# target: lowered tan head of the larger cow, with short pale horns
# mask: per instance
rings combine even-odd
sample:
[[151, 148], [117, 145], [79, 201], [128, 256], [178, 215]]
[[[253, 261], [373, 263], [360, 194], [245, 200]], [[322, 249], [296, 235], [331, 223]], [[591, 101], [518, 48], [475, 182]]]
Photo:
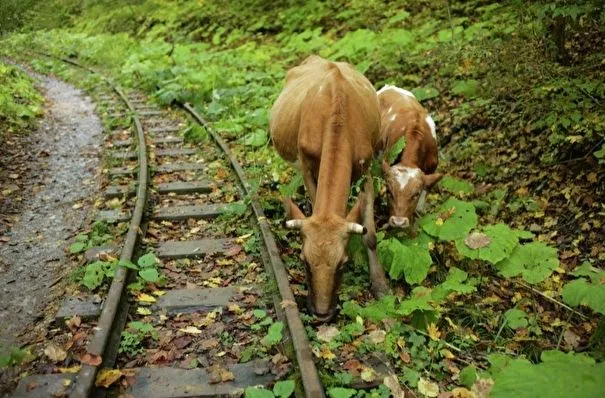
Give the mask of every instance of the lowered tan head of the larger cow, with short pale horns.
[[362, 235], [366, 229], [337, 215], [305, 217], [290, 199], [284, 199], [284, 207], [286, 227], [298, 229], [302, 235], [300, 258], [307, 272], [307, 305], [318, 319], [328, 321], [336, 313], [349, 237]]

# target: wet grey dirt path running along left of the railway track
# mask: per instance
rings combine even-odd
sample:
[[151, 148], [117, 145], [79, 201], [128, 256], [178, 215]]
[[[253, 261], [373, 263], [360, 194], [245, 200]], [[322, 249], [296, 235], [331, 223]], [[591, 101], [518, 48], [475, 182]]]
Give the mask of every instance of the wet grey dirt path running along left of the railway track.
[[0, 175], [21, 172], [13, 184], [19, 192], [0, 203], [0, 219], [8, 220], [0, 229], [0, 348], [18, 342], [48, 305], [67, 264], [65, 246], [88, 216], [77, 203], [98, 190], [102, 126], [93, 103], [70, 85], [37, 77], [44, 120], [30, 137], [14, 137], [13, 151], [0, 149]]

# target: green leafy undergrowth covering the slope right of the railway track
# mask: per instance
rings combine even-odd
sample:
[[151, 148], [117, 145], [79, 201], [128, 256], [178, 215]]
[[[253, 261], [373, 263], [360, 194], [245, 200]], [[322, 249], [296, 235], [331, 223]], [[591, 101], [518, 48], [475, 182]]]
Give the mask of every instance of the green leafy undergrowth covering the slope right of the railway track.
[[[29, 33], [4, 41], [8, 51], [33, 46], [76, 57], [161, 103], [198, 106], [258, 187], [295, 292], [304, 271], [296, 234], [278, 227], [278, 196], [301, 181], [267, 135], [285, 70], [311, 53], [346, 60], [377, 88], [411, 89], [433, 113], [440, 169], [450, 176], [429, 195], [416, 238], [379, 236], [399, 294], [367, 297], [364, 254], [353, 240], [344, 316], [329, 336], [309, 323], [330, 396], [395, 395], [399, 383], [426, 396], [602, 390], [600, 2], [106, 0], [59, 2], [50, 13], [54, 3], [31, 15]], [[384, 217], [383, 199], [376, 205]], [[268, 336], [281, 336], [277, 328]], [[147, 336], [128, 333], [129, 350]], [[386, 355], [395, 384], [351, 362], [352, 351]], [[355, 378], [383, 384], [366, 393], [349, 388]]]

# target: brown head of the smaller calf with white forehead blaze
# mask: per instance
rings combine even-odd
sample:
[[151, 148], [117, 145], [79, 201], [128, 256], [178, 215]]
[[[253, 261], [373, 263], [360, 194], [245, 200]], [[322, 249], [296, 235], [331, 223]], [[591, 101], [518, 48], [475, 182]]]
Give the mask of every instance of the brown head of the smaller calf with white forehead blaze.
[[385, 161], [382, 162], [382, 171], [387, 182], [389, 225], [394, 228], [407, 228], [412, 224], [416, 208], [424, 205], [419, 203], [421, 196], [426, 195], [426, 191], [435, 185], [443, 174], [424, 174], [418, 168], [399, 164], [389, 166]]

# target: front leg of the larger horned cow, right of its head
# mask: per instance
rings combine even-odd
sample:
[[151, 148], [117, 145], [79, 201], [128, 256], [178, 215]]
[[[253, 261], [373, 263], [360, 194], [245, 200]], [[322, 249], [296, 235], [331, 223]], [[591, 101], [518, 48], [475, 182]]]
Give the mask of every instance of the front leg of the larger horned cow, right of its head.
[[368, 173], [363, 188], [363, 200], [361, 202], [361, 213], [363, 225], [367, 233], [363, 236], [363, 243], [368, 251], [370, 263], [370, 281], [372, 282], [372, 294], [380, 298], [391, 293], [389, 281], [384, 273], [382, 264], [376, 255], [376, 224], [374, 223], [374, 183], [372, 176]]

